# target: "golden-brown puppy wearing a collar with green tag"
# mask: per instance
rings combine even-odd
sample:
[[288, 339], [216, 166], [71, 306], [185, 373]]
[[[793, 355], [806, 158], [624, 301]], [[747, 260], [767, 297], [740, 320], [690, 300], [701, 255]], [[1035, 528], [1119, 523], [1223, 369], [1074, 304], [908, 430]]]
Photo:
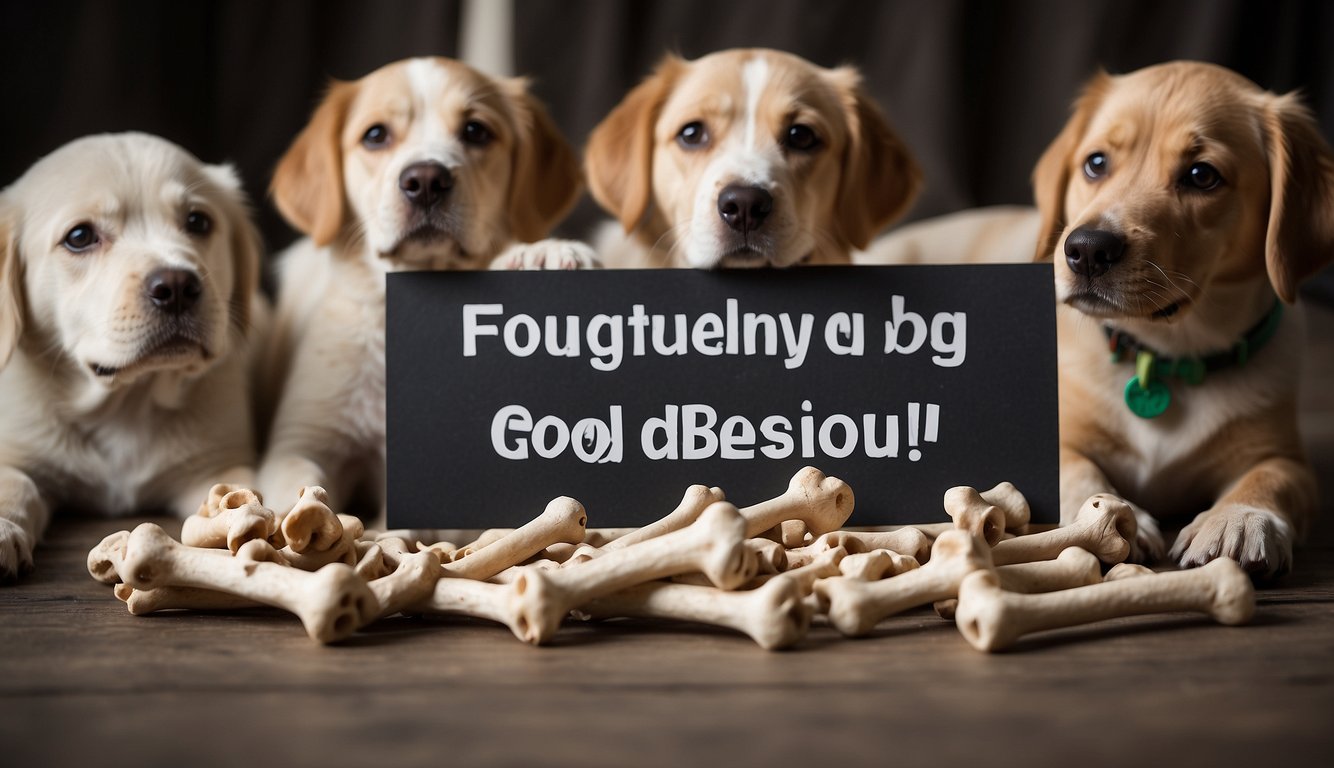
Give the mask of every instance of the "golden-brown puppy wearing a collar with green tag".
[[[1293, 95], [1210, 64], [1097, 76], [1034, 172], [1055, 261], [1061, 495], [1194, 515], [1183, 567], [1271, 575], [1317, 505], [1297, 429], [1302, 323], [1334, 256], [1334, 155]], [[1139, 544], [1163, 548], [1139, 515]]]

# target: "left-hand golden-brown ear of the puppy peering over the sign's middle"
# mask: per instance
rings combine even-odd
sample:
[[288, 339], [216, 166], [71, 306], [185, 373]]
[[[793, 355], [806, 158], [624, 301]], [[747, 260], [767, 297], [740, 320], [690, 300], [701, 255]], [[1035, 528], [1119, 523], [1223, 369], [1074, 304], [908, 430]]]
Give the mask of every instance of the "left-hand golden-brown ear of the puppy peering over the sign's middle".
[[584, 169], [594, 200], [632, 232], [648, 212], [652, 196], [654, 125], [686, 69], [667, 55], [654, 73], [622, 99], [588, 136]]

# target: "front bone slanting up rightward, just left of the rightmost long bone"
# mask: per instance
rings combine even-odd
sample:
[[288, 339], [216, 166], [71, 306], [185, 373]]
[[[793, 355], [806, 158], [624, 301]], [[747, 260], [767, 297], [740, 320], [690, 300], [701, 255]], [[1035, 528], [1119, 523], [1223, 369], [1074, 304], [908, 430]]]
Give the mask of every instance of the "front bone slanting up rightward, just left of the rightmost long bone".
[[830, 623], [855, 637], [870, 632], [882, 619], [954, 597], [964, 576], [990, 568], [986, 544], [964, 531], [946, 531], [936, 537], [927, 564], [915, 571], [880, 581], [823, 579], [816, 581], [815, 593], [828, 607]]

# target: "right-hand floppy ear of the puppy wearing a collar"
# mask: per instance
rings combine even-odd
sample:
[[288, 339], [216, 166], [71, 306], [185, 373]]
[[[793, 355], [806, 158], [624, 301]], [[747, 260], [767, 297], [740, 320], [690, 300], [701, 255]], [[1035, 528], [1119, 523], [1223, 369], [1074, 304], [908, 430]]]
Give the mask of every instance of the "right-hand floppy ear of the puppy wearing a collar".
[[1295, 95], [1277, 96], [1265, 112], [1269, 133], [1269, 232], [1265, 265], [1279, 299], [1334, 259], [1334, 155]]

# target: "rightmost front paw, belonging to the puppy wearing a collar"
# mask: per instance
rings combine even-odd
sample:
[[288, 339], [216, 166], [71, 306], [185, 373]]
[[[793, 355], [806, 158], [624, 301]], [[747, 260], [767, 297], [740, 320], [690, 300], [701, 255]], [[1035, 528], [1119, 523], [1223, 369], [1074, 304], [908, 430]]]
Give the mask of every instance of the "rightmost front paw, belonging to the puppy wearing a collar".
[[1231, 557], [1249, 573], [1277, 576], [1293, 567], [1293, 527], [1258, 507], [1214, 508], [1181, 529], [1171, 556], [1182, 568]]

